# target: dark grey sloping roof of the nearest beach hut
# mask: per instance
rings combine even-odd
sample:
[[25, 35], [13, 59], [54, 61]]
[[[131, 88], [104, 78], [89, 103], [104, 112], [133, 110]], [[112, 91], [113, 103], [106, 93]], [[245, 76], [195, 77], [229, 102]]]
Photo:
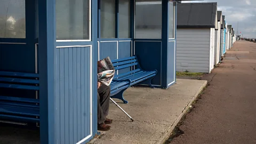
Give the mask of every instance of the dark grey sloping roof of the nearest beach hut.
[[179, 3], [177, 28], [215, 28], [217, 3]]

